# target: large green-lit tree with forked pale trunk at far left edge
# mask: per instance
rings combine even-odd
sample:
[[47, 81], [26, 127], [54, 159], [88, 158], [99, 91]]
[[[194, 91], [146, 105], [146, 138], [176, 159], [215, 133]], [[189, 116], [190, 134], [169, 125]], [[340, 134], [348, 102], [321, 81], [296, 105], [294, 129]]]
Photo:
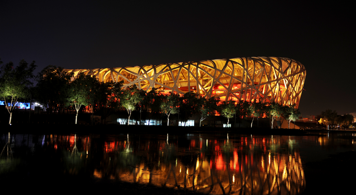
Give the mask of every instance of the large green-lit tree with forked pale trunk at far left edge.
[[36, 67], [35, 61], [28, 65], [25, 60], [21, 60], [16, 68], [9, 62], [0, 69], [0, 97], [5, 101], [5, 107], [10, 114], [9, 125], [18, 100], [28, 97], [31, 80], [34, 78], [33, 70]]

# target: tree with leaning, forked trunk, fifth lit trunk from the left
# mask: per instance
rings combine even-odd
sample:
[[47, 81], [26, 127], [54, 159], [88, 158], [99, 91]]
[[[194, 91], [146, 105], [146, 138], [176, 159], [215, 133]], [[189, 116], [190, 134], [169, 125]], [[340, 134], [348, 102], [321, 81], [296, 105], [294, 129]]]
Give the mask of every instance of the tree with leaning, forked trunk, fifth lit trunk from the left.
[[198, 104], [198, 111], [200, 117], [199, 127], [201, 126], [201, 121], [204, 121], [209, 115], [214, 115], [215, 111], [218, 110], [218, 104], [220, 102], [220, 97], [210, 97], [208, 100], [205, 98], [200, 98], [200, 103]]

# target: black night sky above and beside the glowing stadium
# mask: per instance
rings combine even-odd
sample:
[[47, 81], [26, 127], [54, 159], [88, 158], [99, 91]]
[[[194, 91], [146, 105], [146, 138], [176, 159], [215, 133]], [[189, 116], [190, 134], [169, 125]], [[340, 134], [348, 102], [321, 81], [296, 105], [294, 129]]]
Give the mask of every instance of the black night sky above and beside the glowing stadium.
[[0, 1], [0, 58], [68, 69], [237, 57], [304, 64], [303, 117], [356, 112], [352, 4]]

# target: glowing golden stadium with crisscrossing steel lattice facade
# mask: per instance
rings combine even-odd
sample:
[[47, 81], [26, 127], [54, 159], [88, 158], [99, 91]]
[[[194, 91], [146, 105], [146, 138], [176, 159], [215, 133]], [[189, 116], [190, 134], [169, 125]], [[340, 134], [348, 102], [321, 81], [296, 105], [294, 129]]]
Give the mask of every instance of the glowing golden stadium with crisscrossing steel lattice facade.
[[296, 60], [279, 57], [246, 57], [233, 59], [180, 62], [144, 67], [64, 69], [93, 75], [99, 81], [124, 80], [124, 88], [136, 85], [151, 90], [163, 87], [179, 94], [194, 91], [200, 97], [220, 97], [221, 101], [245, 100], [277, 102], [298, 107], [305, 81], [305, 68]]

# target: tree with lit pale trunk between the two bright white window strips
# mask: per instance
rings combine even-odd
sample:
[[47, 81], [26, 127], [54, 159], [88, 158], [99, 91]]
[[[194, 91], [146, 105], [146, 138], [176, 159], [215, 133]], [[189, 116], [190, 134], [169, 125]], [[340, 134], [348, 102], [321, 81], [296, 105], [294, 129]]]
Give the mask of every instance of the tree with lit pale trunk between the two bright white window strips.
[[167, 126], [169, 126], [169, 116], [178, 113], [179, 95], [169, 92], [162, 96], [161, 113], [167, 116]]

